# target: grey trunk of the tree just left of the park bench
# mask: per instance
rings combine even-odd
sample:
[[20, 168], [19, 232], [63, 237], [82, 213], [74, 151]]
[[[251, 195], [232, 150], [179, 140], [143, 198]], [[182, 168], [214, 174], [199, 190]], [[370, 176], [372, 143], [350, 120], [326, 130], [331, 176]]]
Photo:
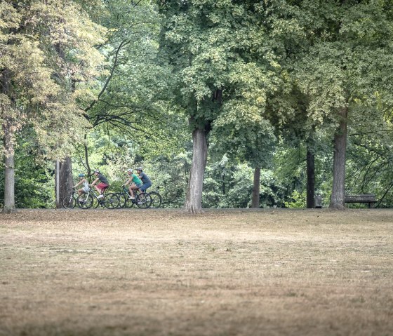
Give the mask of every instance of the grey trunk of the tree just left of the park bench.
[[348, 108], [340, 111], [340, 127], [334, 137], [333, 187], [329, 208], [345, 209], [345, 156], [347, 150]]

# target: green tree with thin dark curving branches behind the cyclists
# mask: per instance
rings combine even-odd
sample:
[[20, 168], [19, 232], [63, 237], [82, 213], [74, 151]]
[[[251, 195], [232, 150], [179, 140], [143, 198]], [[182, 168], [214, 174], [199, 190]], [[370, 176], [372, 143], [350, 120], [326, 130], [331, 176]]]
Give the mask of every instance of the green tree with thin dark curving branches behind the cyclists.
[[[171, 129], [175, 116], [166, 103], [166, 69], [156, 62], [160, 17], [152, 1], [105, 1], [99, 22], [109, 34], [100, 46], [107, 59], [107, 72], [95, 84], [97, 95], [82, 102], [91, 129], [86, 130], [84, 169], [91, 171], [88, 137], [106, 133], [121, 137], [123, 144], [156, 148], [174, 142]], [[169, 144], [168, 144], [169, 146]], [[81, 152], [81, 151], [80, 151]], [[142, 155], [142, 153], [139, 153]]]

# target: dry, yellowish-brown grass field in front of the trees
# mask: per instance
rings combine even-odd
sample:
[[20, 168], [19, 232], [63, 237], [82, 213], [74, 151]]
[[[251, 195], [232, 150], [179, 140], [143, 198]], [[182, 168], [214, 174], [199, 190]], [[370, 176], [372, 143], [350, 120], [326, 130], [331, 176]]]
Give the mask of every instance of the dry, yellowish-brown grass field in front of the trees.
[[0, 335], [393, 335], [393, 210], [0, 213]]

